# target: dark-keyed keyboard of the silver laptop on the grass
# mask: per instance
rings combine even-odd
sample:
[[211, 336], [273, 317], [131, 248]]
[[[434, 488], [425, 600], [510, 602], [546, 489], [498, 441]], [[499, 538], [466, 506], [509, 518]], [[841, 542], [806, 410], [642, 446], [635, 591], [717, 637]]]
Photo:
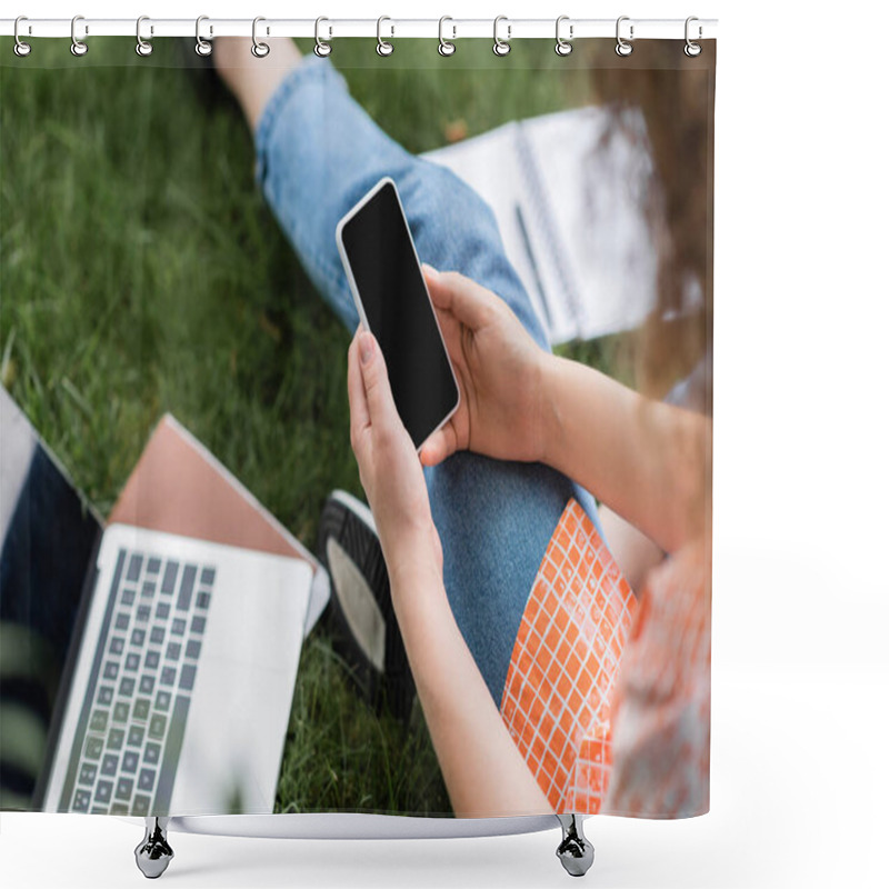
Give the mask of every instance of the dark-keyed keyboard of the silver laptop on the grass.
[[120, 550], [61, 811], [168, 815], [216, 569]]

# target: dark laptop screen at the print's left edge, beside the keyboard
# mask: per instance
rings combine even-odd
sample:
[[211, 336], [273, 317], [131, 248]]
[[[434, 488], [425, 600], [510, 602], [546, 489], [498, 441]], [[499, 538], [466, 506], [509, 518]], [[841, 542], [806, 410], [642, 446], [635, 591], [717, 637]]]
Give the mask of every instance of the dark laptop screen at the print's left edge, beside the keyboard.
[[0, 809], [31, 809], [101, 532], [0, 387]]

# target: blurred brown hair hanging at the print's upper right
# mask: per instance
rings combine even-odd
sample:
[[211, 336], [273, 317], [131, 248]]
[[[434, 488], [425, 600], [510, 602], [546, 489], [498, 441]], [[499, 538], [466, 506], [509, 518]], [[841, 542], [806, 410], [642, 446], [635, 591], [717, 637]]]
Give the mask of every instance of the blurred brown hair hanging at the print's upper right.
[[[598, 101], [641, 110], [655, 164], [648, 209], [659, 257], [658, 298], [641, 332], [637, 386], [662, 397], [695, 371], [697, 406], [709, 414], [716, 49], [706, 44], [690, 59], [681, 41], [646, 40], [619, 58], [613, 41], [592, 41], [590, 52]], [[695, 290], [701, 299], [689, 308]]]

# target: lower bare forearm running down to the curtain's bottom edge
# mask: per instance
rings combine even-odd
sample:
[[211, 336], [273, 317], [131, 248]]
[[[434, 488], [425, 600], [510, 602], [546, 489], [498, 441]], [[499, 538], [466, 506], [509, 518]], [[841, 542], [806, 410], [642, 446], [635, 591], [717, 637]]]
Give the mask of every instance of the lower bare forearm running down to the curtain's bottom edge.
[[491, 700], [440, 575], [410, 565], [391, 581], [408, 660], [455, 812], [491, 817], [552, 811]]

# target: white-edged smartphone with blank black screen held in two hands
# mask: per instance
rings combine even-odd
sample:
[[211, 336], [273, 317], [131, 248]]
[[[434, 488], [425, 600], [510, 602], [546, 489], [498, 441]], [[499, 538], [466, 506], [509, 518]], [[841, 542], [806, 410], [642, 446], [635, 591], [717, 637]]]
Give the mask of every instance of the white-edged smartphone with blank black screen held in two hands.
[[460, 390], [396, 183], [381, 179], [337, 226], [358, 316], [380, 344], [396, 408], [419, 450]]

